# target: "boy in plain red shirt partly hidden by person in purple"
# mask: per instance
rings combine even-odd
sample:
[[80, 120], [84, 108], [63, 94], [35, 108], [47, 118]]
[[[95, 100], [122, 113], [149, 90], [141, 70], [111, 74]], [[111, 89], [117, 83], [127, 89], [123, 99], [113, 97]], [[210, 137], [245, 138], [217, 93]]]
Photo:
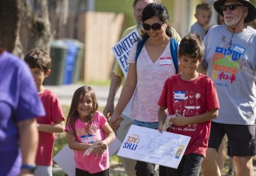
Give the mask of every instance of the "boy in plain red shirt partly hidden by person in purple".
[[[46, 115], [38, 117], [39, 142], [34, 175], [52, 175], [52, 154], [54, 149], [54, 133], [64, 131], [64, 114], [56, 94], [42, 86], [43, 80], [50, 74], [50, 55], [45, 50], [30, 50], [25, 58], [38, 87], [38, 95], [46, 110]], [[36, 105], [35, 105], [36, 106]]]

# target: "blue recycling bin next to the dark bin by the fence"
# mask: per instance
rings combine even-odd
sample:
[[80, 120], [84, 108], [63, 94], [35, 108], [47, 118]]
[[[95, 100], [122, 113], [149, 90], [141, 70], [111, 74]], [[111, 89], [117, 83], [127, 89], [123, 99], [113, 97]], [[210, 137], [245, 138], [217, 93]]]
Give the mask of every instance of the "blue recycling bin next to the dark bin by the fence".
[[83, 55], [83, 44], [75, 39], [62, 38], [62, 41], [66, 43], [66, 66], [63, 84], [71, 84], [78, 81]]

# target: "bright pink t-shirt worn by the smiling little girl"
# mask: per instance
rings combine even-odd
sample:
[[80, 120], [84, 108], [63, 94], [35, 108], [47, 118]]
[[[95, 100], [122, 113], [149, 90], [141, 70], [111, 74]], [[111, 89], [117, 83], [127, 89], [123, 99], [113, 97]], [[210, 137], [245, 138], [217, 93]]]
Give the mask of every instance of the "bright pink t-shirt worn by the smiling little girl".
[[[95, 140], [104, 140], [106, 134], [102, 129], [106, 123], [106, 118], [102, 113], [96, 111], [94, 114], [94, 122], [91, 124], [89, 133], [86, 131], [86, 122], [82, 122], [79, 118], [75, 122], [76, 134], [78, 136], [78, 142], [82, 142], [82, 137], [88, 134], [92, 134]], [[69, 126], [66, 126], [66, 131], [70, 130]], [[76, 168], [80, 170], [86, 170], [90, 174], [95, 174], [106, 170], [110, 167], [109, 162], [109, 150], [105, 150], [102, 155], [95, 157], [94, 154], [83, 156], [85, 151], [74, 150], [74, 162]]]

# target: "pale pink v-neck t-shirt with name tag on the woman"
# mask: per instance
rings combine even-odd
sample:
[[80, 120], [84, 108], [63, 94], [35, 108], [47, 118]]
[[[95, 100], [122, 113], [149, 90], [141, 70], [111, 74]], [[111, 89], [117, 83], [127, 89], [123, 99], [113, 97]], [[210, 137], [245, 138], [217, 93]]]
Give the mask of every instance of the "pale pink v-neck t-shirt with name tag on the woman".
[[[129, 63], [135, 63], [138, 42], [130, 48]], [[137, 60], [137, 86], [131, 117], [142, 122], [158, 122], [158, 99], [166, 78], [176, 73], [170, 54], [170, 42], [157, 61], [152, 62], [143, 46]]]

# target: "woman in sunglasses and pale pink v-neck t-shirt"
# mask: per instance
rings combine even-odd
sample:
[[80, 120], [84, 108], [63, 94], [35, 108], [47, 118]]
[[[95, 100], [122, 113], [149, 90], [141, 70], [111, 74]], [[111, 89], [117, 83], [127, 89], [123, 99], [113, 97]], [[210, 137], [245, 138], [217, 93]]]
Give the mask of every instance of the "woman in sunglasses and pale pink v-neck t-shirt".
[[[130, 49], [129, 71], [125, 85], [114, 110], [110, 125], [114, 130], [120, 125], [120, 115], [130, 98], [134, 95], [131, 117], [134, 125], [152, 129], [158, 128], [158, 99], [166, 78], [176, 73], [170, 53], [169, 14], [166, 7], [159, 3], [150, 3], [142, 12], [142, 22], [146, 41], [138, 59], [135, 59], [138, 42]], [[177, 46], [174, 46], [177, 49]], [[135, 89], [136, 88], [136, 89]], [[154, 164], [137, 162], [136, 175], [155, 175]]]

